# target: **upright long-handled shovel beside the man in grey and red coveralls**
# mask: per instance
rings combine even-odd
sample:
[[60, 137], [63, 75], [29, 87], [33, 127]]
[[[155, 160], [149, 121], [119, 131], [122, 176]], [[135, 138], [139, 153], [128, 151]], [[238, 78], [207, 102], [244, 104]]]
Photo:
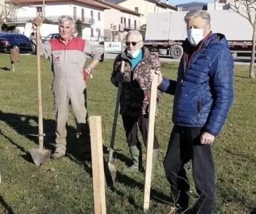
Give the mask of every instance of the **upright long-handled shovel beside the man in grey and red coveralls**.
[[43, 113], [42, 113], [42, 89], [41, 89], [41, 64], [40, 64], [40, 54], [41, 54], [41, 44], [40, 44], [40, 32], [39, 27], [36, 28], [36, 59], [37, 59], [37, 86], [38, 86], [38, 139], [39, 139], [39, 149], [31, 149], [29, 151], [34, 163], [36, 165], [41, 165], [45, 163], [51, 155], [51, 150], [46, 150], [43, 148], [44, 144], [44, 132], [43, 132]]

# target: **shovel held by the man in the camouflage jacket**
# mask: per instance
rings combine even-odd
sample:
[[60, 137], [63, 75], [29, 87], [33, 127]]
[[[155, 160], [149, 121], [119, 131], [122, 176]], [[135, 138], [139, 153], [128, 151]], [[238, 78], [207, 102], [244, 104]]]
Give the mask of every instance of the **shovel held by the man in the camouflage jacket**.
[[[121, 73], [124, 73], [124, 68], [125, 68], [125, 62], [122, 61], [121, 63]], [[119, 111], [119, 102], [120, 102], [120, 96], [121, 96], [121, 90], [122, 90], [122, 82], [118, 84], [117, 88], [117, 96], [116, 96], [116, 102], [115, 102], [115, 111], [114, 111], [114, 121], [113, 121], [113, 126], [112, 126], [112, 134], [111, 134], [111, 139], [110, 139], [110, 148], [109, 148], [109, 153], [108, 153], [108, 169], [112, 178], [112, 181], [114, 183], [115, 177], [116, 177], [116, 169], [115, 166], [111, 163], [113, 159], [113, 153], [114, 153], [114, 141], [115, 141], [115, 130], [116, 130], [116, 122], [117, 122], [117, 116], [118, 116], [118, 111]]]

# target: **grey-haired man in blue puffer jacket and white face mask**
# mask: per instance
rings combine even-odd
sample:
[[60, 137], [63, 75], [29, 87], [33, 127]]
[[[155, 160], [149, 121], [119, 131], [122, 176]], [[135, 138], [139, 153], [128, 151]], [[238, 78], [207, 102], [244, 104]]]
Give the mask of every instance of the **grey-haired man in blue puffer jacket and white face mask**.
[[[233, 58], [225, 36], [211, 32], [207, 11], [190, 11], [185, 21], [187, 39], [177, 81], [155, 72], [159, 90], [174, 95], [174, 127], [164, 169], [171, 184], [172, 202], [184, 211], [189, 200], [184, 165], [192, 160], [199, 196], [193, 213], [208, 214], [212, 213], [215, 193], [211, 146], [233, 102]], [[175, 213], [179, 213], [178, 210]]]

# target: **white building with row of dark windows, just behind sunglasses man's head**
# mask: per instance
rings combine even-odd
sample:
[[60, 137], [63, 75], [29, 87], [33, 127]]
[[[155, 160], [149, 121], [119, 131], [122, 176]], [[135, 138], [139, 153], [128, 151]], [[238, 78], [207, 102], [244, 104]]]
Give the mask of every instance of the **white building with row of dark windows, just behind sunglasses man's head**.
[[[129, 30], [140, 30], [140, 16], [142, 14], [111, 2], [94, 0], [95, 3], [110, 9], [104, 11], [105, 41], [121, 41]], [[123, 33], [120, 27], [123, 26]]]

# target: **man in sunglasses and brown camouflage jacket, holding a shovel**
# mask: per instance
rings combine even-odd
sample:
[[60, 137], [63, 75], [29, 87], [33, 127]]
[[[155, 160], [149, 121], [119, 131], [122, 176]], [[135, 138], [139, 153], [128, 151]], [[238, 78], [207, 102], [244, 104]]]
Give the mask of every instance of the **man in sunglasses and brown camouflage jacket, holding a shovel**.
[[[159, 58], [150, 53], [143, 46], [142, 34], [139, 31], [129, 31], [126, 36], [126, 50], [115, 58], [111, 82], [117, 86], [122, 82], [122, 93], [120, 98], [120, 113], [122, 114], [126, 140], [129, 146], [133, 164], [126, 171], [141, 171], [142, 147], [137, 137], [137, 125], [141, 131], [144, 145], [147, 146], [151, 82], [149, 80], [150, 70], [160, 70]], [[121, 62], [125, 62], [124, 74], [120, 72]], [[157, 103], [161, 93], [157, 93]], [[157, 162], [159, 142], [154, 135], [153, 166]], [[153, 172], [153, 171], [152, 171]], [[153, 173], [152, 173], [153, 175]]]

